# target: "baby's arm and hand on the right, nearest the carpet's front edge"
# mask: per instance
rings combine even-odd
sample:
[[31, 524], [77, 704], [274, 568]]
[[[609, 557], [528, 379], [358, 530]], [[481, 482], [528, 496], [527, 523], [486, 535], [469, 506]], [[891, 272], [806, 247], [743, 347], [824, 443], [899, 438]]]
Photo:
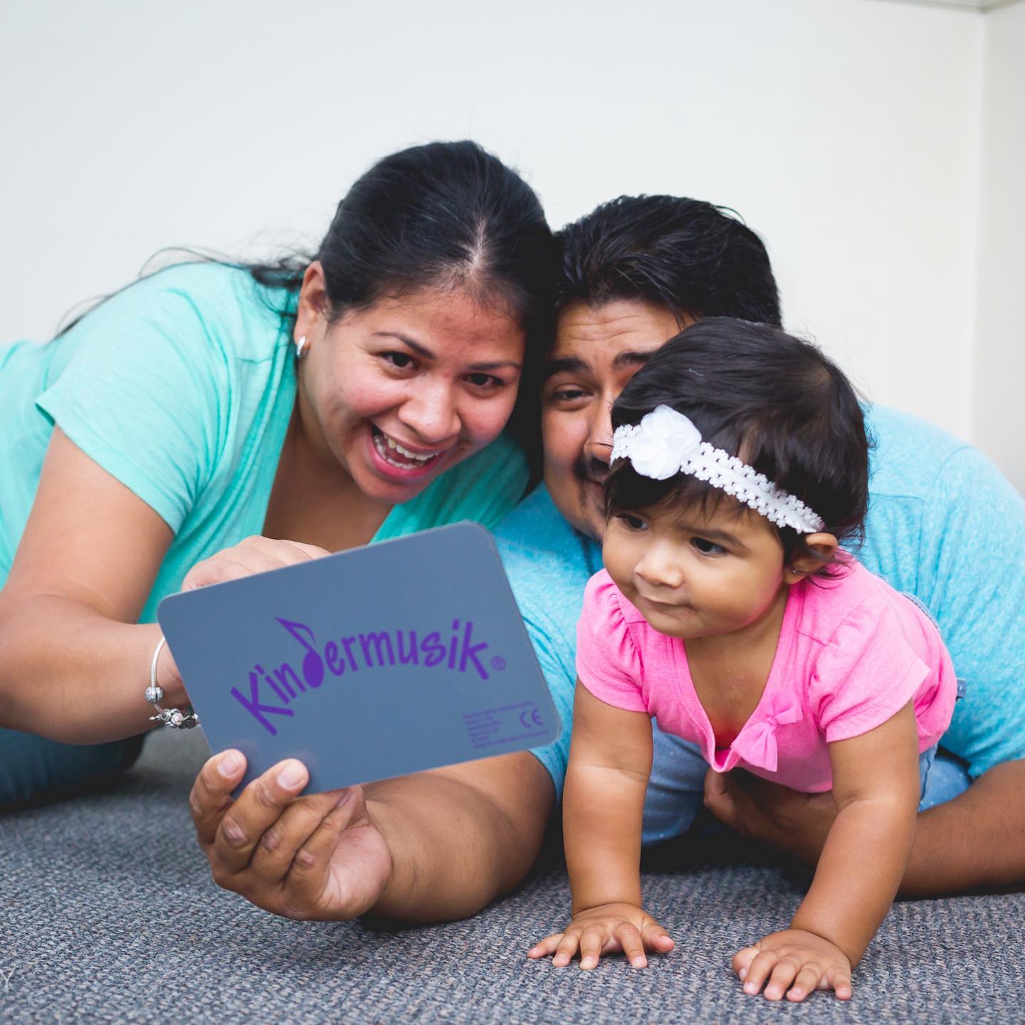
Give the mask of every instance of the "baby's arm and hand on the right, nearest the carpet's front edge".
[[920, 789], [914, 710], [829, 745], [836, 819], [790, 928], [734, 957], [744, 989], [803, 1000], [851, 995], [851, 969], [890, 910], [914, 840]]

